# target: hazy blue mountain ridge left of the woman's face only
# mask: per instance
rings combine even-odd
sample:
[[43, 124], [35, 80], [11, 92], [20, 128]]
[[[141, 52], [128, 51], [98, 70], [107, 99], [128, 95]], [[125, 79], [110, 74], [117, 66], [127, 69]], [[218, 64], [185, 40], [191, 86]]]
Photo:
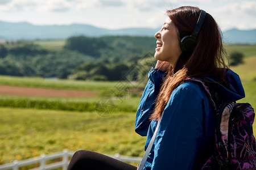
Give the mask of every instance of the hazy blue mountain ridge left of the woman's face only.
[[32, 25], [26, 22], [0, 22], [0, 39], [14, 40], [67, 39], [77, 35], [94, 37], [107, 35], [154, 36], [156, 31], [157, 29], [151, 28], [104, 29], [88, 24]]

